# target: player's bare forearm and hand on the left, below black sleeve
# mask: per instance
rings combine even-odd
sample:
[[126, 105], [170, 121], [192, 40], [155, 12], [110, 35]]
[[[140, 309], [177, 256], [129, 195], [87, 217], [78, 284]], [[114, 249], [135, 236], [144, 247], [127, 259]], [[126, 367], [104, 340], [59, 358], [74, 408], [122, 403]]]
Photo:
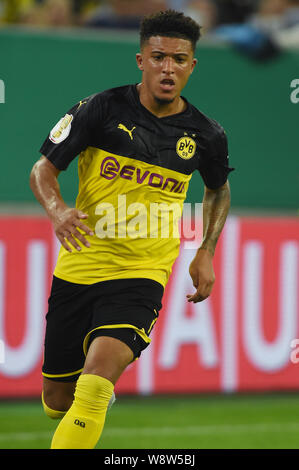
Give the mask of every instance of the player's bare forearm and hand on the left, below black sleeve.
[[31, 170], [30, 187], [51, 220], [62, 246], [69, 252], [72, 247], [80, 251], [78, 241], [86, 247], [90, 245], [78, 228], [88, 235], [93, 235], [93, 232], [83, 222], [88, 215], [64, 202], [57, 179], [59, 173], [60, 170], [43, 155]]

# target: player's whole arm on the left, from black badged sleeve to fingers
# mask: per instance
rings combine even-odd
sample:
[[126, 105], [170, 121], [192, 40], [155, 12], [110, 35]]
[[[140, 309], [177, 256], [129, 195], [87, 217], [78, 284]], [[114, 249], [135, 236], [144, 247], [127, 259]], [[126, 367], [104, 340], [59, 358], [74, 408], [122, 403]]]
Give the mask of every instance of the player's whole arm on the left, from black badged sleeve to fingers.
[[100, 105], [96, 95], [81, 100], [61, 118], [40, 148], [42, 157], [30, 174], [30, 187], [50, 218], [56, 236], [69, 252], [89, 248], [86, 235], [93, 235], [85, 219], [88, 214], [69, 207], [63, 200], [58, 175], [84, 151], [93, 140], [94, 128], [99, 129]]

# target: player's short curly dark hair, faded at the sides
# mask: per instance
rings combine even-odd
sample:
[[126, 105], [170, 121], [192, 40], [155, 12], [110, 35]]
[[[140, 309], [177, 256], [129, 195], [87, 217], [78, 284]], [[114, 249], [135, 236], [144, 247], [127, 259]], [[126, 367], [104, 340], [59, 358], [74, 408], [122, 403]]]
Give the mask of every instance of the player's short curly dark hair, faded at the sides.
[[200, 38], [200, 26], [189, 16], [175, 10], [159, 11], [145, 16], [140, 25], [140, 47], [152, 36], [166, 36], [187, 39], [193, 52]]

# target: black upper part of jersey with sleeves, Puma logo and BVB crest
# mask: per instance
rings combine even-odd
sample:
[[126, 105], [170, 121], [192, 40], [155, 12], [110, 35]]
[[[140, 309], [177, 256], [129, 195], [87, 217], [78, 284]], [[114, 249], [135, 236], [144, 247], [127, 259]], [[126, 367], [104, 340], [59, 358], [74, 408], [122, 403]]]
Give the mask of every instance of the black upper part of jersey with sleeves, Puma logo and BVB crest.
[[226, 135], [183, 99], [183, 112], [158, 118], [140, 103], [135, 85], [106, 90], [71, 108], [66, 116], [72, 120], [65, 123], [69, 134], [58, 126], [55, 142], [52, 129], [40, 151], [63, 170], [87, 147], [95, 147], [186, 175], [198, 170], [207, 187], [217, 188], [232, 171]]

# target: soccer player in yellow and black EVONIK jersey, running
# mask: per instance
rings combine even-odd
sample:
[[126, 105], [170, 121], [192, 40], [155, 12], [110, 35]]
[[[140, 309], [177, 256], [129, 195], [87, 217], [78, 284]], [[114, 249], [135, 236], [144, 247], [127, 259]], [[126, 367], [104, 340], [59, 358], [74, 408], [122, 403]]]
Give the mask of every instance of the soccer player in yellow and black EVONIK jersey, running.
[[[199, 37], [200, 27], [183, 13], [145, 17], [136, 55], [141, 83], [75, 104], [49, 133], [31, 171], [31, 189], [61, 242], [42, 369], [45, 412], [62, 418], [53, 449], [95, 447], [117, 380], [149, 345], [179, 252], [171, 231], [168, 237], [151, 232], [150, 210], [174, 203], [182, 211], [196, 170], [205, 186], [204, 231], [189, 267], [196, 291], [188, 301], [206, 299], [215, 282], [231, 169], [222, 127], [181, 96]], [[64, 202], [57, 178], [77, 155], [74, 208]], [[145, 223], [132, 236], [141, 209]]]

